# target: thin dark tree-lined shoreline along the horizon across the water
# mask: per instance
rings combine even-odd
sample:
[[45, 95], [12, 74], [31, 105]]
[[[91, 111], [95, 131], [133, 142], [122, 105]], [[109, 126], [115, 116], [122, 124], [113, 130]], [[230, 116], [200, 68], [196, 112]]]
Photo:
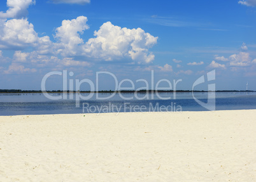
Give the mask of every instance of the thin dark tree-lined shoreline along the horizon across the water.
[[0, 94], [23, 94], [23, 93], [208, 93], [208, 92], [216, 92], [216, 93], [225, 93], [225, 92], [256, 92], [256, 91], [238, 91], [238, 90], [218, 90], [218, 91], [192, 91], [192, 90], [122, 90], [122, 91], [61, 91], [61, 90], [53, 90], [53, 91], [40, 91], [40, 90], [21, 90], [21, 89], [0, 89]]

